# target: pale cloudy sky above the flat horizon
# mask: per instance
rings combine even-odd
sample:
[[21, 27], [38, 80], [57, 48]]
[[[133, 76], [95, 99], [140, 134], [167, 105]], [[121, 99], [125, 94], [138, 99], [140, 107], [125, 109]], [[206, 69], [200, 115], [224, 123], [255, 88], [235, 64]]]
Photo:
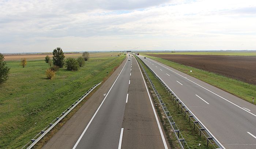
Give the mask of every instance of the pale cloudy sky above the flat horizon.
[[0, 0], [0, 53], [256, 50], [255, 0]]

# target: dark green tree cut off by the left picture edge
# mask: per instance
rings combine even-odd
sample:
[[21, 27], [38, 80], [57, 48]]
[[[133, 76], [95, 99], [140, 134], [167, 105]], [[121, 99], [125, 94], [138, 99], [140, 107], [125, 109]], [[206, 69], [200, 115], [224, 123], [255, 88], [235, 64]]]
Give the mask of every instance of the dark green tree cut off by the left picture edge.
[[10, 68], [6, 66], [4, 56], [0, 53], [0, 84], [4, 83], [8, 79], [8, 73]]

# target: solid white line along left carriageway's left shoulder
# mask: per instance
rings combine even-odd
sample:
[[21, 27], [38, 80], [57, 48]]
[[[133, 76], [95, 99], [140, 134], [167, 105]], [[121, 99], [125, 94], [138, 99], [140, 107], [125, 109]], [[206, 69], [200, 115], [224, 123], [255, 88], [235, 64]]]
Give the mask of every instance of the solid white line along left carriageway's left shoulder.
[[[127, 61], [128, 61], [128, 59], [127, 59]], [[127, 63], [127, 61], [126, 61], [126, 63]], [[124, 64], [124, 67], [125, 67], [126, 63]], [[123, 67], [123, 69], [124, 69], [124, 67]], [[121, 70], [121, 72], [123, 71], [123, 69]], [[117, 76], [116, 80], [117, 80], [118, 77], [121, 75], [121, 72], [120, 72], [119, 75]], [[89, 123], [87, 124], [87, 126], [86, 126], [86, 128], [84, 129], [83, 133], [82, 133], [81, 136], [79, 137], [78, 141], [76, 141], [76, 144], [74, 145], [73, 149], [76, 148], [76, 146], [78, 145], [78, 143], [79, 143], [80, 140], [82, 139], [84, 133], [86, 132], [86, 130], [87, 130], [88, 127], [90, 126], [91, 122], [93, 121], [95, 115], [98, 113], [99, 108], [101, 108], [101, 105], [103, 104], [103, 102], [104, 102], [105, 99], [107, 98], [107, 96], [108, 96], [110, 90], [112, 89], [112, 87], [113, 87], [114, 84], [116, 83], [116, 80], [114, 81], [113, 85], [112, 85], [111, 88], [109, 89], [109, 91], [108, 91], [108, 93], [106, 94], [105, 98], [103, 99], [103, 101], [102, 101], [101, 104], [99, 105], [98, 109], [97, 109], [96, 112], [94, 113], [93, 117], [91, 118], [91, 120], [90, 120]]]

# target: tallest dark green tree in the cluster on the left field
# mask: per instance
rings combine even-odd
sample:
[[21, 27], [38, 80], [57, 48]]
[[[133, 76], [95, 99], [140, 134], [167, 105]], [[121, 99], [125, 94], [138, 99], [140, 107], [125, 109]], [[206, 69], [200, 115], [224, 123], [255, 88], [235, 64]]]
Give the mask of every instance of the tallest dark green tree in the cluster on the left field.
[[53, 57], [52, 57], [53, 65], [56, 65], [62, 68], [65, 63], [65, 60], [64, 60], [65, 56], [62, 49], [58, 47], [53, 50], [52, 54], [53, 54]]

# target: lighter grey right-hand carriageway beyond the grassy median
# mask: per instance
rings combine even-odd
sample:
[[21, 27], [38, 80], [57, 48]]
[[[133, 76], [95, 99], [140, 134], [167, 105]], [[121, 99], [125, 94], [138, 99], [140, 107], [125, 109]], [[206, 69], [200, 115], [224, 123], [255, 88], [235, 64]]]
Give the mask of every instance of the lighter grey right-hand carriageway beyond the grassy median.
[[138, 57], [226, 149], [256, 148], [255, 105], [148, 57]]

